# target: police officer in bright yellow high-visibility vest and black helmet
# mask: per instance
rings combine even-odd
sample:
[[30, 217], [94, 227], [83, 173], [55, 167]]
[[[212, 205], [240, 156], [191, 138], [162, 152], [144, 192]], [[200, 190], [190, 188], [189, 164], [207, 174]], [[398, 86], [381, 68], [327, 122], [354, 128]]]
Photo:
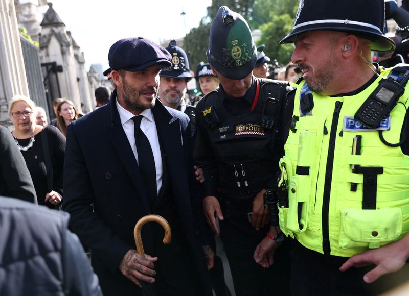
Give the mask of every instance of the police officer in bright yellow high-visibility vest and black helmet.
[[296, 238], [293, 295], [372, 295], [409, 278], [409, 65], [370, 62], [395, 47], [383, 18], [383, 0], [301, 0], [281, 41], [304, 78], [288, 95], [276, 199]]

